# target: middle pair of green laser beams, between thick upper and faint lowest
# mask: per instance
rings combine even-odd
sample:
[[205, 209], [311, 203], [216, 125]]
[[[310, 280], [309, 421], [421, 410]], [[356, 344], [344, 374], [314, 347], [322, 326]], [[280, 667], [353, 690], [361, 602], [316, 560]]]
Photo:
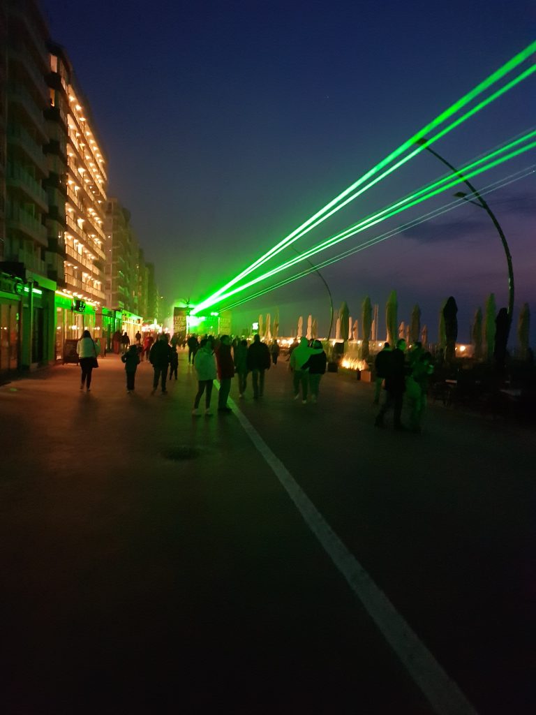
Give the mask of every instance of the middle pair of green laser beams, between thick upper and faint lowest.
[[[354, 224], [350, 227], [347, 227], [344, 229], [342, 232], [339, 232], [335, 234], [332, 237], [329, 237], [327, 240], [324, 242], [310, 248], [309, 250], [299, 254], [296, 257], [293, 257], [292, 259], [288, 260], [287, 262], [284, 262], [282, 265], [279, 265], [272, 270], [269, 270], [265, 273], [263, 273], [260, 276], [257, 276], [253, 278], [252, 280], [249, 280], [249, 282], [246, 282], [242, 285], [239, 285], [232, 290], [227, 291], [227, 293], [224, 293], [218, 297], [217, 300], [214, 302], [221, 302], [221, 300], [225, 300], [226, 298], [235, 295], [237, 292], [241, 292], [242, 290], [246, 290], [246, 288], [251, 287], [252, 285], [257, 284], [258, 282], [262, 280], [266, 280], [269, 277], [272, 277], [272, 275], [275, 275], [276, 273], [285, 270], [286, 268], [295, 265], [296, 263], [306, 260], [307, 258], [310, 258], [311, 256], [317, 254], [318, 252], [327, 249], [328, 247], [331, 247], [332, 245], [339, 243], [341, 241], [346, 240], [349, 237], [352, 237], [356, 235], [359, 232], [362, 232], [366, 230], [369, 227], [372, 227], [376, 225], [377, 223], [387, 220], [388, 218], [391, 218], [397, 214], [399, 214], [402, 211], [405, 211], [409, 209], [410, 207], [413, 207], [422, 201], [425, 201], [427, 199], [430, 199], [434, 196], [437, 196], [437, 194], [442, 193], [443, 191], [446, 191], [447, 189], [452, 188], [453, 186], [456, 186], [457, 184], [460, 184], [460, 182], [464, 182], [465, 179], [470, 179], [471, 177], [475, 177], [478, 174], [481, 174], [482, 172], [488, 171], [489, 169], [492, 169], [495, 166], [498, 166], [499, 164], [502, 164], [503, 162], [509, 161], [510, 159], [513, 159], [514, 157], [519, 156], [520, 154], [529, 151], [530, 149], [533, 149], [536, 146], [536, 142], [530, 142], [529, 144], [526, 144], [524, 147], [520, 147], [518, 149], [515, 149], [513, 151], [510, 151], [508, 154], [506, 154], [504, 157], [498, 156], [498, 154], [502, 154], [503, 152], [507, 151], [507, 149], [512, 149], [512, 147], [517, 146], [520, 144], [520, 142], [525, 141], [527, 138], [534, 137], [536, 132], [530, 132], [526, 137], [523, 137], [522, 139], [517, 139], [514, 142], [511, 142], [509, 145], [506, 147], [503, 147], [502, 149], [497, 149], [495, 152], [491, 152], [491, 154], [488, 154], [487, 157], [483, 157], [482, 159], [478, 159], [476, 162], [473, 162], [473, 164], [469, 164], [466, 167], [462, 167], [460, 169], [460, 172], [464, 175], [465, 178], [461, 178], [460, 176], [455, 176], [453, 177], [452, 174], [450, 177], [444, 177], [443, 179], [439, 179], [436, 182], [433, 182], [432, 184], [429, 184], [427, 187], [424, 187], [423, 189], [420, 189], [420, 191], [410, 194], [410, 196], [405, 197], [405, 199], [401, 199], [400, 201], [391, 204], [389, 207], [382, 209], [382, 211], [377, 212], [375, 214], [372, 214], [371, 216], [367, 217], [366, 219], [362, 220], [361, 222]], [[489, 161], [489, 159], [492, 159], [492, 157], [497, 157], [495, 160]], [[487, 161], [487, 164], [484, 166], [479, 166], [479, 164], [482, 164], [483, 162]], [[444, 184], [441, 186], [441, 184]]]

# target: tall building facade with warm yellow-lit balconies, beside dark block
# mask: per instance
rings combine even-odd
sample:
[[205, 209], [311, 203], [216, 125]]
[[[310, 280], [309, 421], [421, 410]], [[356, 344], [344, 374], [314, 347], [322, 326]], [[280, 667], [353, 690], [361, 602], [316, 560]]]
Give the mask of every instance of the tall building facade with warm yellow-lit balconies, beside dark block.
[[[58, 186], [54, 185], [58, 174], [51, 172], [57, 218], [59, 222], [64, 221], [62, 290], [56, 297], [56, 355], [59, 355], [64, 340], [80, 337], [84, 327], [95, 337], [101, 337], [109, 322], [106, 311], [102, 310], [105, 304], [106, 169], [89, 104], [76, 87], [69, 59], [61, 47], [49, 45], [49, 64], [49, 113], [54, 116], [51, 144], [54, 147], [59, 144], [54, 160], [65, 161], [64, 185], [61, 179]], [[58, 163], [57, 169], [61, 170], [61, 164]], [[63, 191], [62, 210], [59, 204]]]

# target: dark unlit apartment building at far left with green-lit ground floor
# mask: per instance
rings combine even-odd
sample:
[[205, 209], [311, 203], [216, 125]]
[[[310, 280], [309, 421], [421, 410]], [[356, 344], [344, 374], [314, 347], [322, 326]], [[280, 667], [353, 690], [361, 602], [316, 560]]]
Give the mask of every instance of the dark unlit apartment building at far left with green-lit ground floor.
[[[50, 360], [54, 353], [54, 291], [49, 278], [44, 182], [49, 137], [48, 31], [33, 0], [4, 0], [0, 74], [3, 134], [0, 148], [1, 256], [0, 372]], [[5, 152], [5, 153], [4, 153]], [[0, 199], [0, 203], [1, 203]]]

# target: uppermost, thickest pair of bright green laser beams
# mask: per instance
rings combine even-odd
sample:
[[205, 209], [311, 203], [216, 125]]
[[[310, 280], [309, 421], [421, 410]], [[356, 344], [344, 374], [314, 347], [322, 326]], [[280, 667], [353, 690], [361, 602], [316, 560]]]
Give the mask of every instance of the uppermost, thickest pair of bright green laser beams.
[[[410, 139], [407, 139], [407, 141], [404, 142], [403, 144], [401, 144], [397, 149], [395, 149], [394, 152], [391, 152], [390, 154], [388, 154], [388, 156], [385, 157], [384, 159], [382, 159], [381, 162], [379, 162], [374, 167], [372, 167], [372, 169], [369, 169], [369, 171], [366, 172], [365, 174], [363, 174], [362, 177], [357, 179], [356, 182], [354, 182], [347, 189], [344, 189], [344, 191], [342, 193], [340, 193], [337, 197], [332, 199], [331, 202], [326, 204], [316, 214], [314, 214], [312, 217], [310, 217], [307, 221], [305, 221], [302, 225], [300, 225], [297, 229], [295, 229], [292, 233], [290, 233], [287, 237], [285, 237], [282, 241], [280, 241], [276, 246], [274, 246], [267, 253], [265, 253], [262, 257], [260, 257], [256, 261], [254, 261], [251, 265], [249, 265], [249, 267], [247, 267], [241, 273], [239, 273], [239, 275], [237, 275], [232, 280], [227, 282], [224, 286], [219, 288], [219, 290], [217, 290], [217, 292], [212, 294], [209, 298], [207, 298], [206, 300], [199, 303], [199, 305], [197, 305], [197, 307], [194, 308], [192, 313], [198, 312], [199, 310], [202, 310], [204, 307], [209, 307], [209, 305], [213, 305], [213, 303], [211, 303], [212, 299], [221, 295], [225, 290], [227, 290], [228, 287], [230, 287], [231, 285], [234, 285], [242, 277], [244, 277], [245, 275], [249, 275], [249, 273], [252, 272], [256, 267], [258, 267], [259, 265], [262, 265], [262, 263], [269, 260], [269, 258], [272, 257], [272, 255], [274, 255], [275, 252], [278, 252], [278, 250], [280, 248], [287, 245], [287, 243], [290, 240], [292, 240], [294, 237], [296, 237], [295, 240], [297, 240], [297, 234], [302, 232], [301, 235], [304, 235], [304, 232], [305, 232], [304, 229], [307, 228], [307, 230], [312, 230], [311, 225], [312, 225], [312, 223], [315, 222], [315, 220], [319, 219], [319, 217], [322, 217], [324, 214], [329, 212], [329, 209], [332, 209], [332, 207], [334, 207], [336, 204], [339, 204], [339, 202], [341, 202], [344, 197], [346, 197], [348, 194], [350, 194], [352, 191], [354, 191], [354, 189], [356, 189], [358, 186], [360, 186], [361, 184], [366, 182], [367, 179], [374, 176], [374, 174], [377, 174], [377, 172], [379, 172], [380, 169], [387, 166], [387, 164], [389, 164], [389, 162], [392, 162], [393, 159], [396, 159], [397, 157], [400, 156], [400, 154], [403, 154], [407, 149], [409, 149], [410, 147], [415, 145], [415, 142], [417, 142], [417, 140], [422, 139], [425, 136], [425, 134], [430, 132], [432, 129], [435, 129], [435, 127], [438, 127], [440, 124], [445, 122], [449, 117], [451, 117], [452, 114], [459, 112], [460, 109], [462, 109], [462, 107], [465, 107], [467, 104], [469, 104], [469, 102], [471, 102], [472, 99], [475, 99], [479, 94], [482, 94], [482, 92], [485, 92], [485, 90], [488, 89], [489, 87], [491, 87], [492, 84], [495, 84], [495, 82], [498, 82], [500, 79], [502, 79], [502, 77], [505, 77], [506, 74], [509, 74], [510, 71], [512, 71], [512, 69], [515, 69], [515, 67], [522, 64], [522, 62], [524, 62], [526, 59], [528, 59], [528, 57], [530, 57], [532, 54], [534, 54], [535, 51], [536, 51], [536, 42], [533, 42], [532, 44], [527, 46], [527, 48], [525, 48], [524, 50], [519, 52], [517, 55], [512, 57], [512, 59], [510, 59], [505, 64], [503, 64], [495, 72], [490, 74], [489, 77], [487, 77], [485, 80], [480, 82], [480, 84], [478, 84], [477, 87], [472, 89], [470, 92], [467, 92], [467, 94], [465, 94], [461, 99], [459, 99], [457, 102], [455, 102], [450, 107], [445, 109], [444, 112], [439, 114], [435, 119], [432, 120], [432, 122], [429, 122], [425, 127], [420, 129], [420, 131], [417, 132], [416, 134], [414, 134], [412, 137], [410, 137]], [[465, 116], [465, 118], [460, 118], [460, 120], [455, 122], [452, 125], [452, 127], [450, 129], [448, 129], [448, 131], [451, 131], [456, 126], [459, 126], [459, 124], [462, 121], [465, 121], [467, 118], [472, 116], [472, 114], [475, 114], [477, 111], [480, 111], [480, 109], [482, 109], [483, 106], [486, 106], [486, 104], [489, 104], [490, 102], [494, 101], [494, 99], [497, 99], [497, 97], [500, 96], [500, 94], [504, 94], [504, 92], [507, 92], [508, 89], [511, 89], [514, 86], [514, 84], [517, 84], [517, 82], [521, 82], [522, 79], [526, 79], [526, 77], [528, 77], [529, 74], [532, 74], [532, 71], [535, 71], [535, 69], [536, 69], [536, 67], [532, 67], [532, 68], [529, 68], [528, 70], [526, 70], [525, 72], [523, 72], [518, 78], [516, 78], [517, 81], [515, 81], [513, 84], [508, 83], [506, 88], [503, 88], [503, 90], [500, 91], [500, 93], [495, 93], [497, 96], [494, 97], [493, 99], [489, 99], [489, 101], [485, 101], [485, 103], [481, 102], [480, 104], [482, 104], [482, 106], [479, 106], [479, 109], [475, 109], [475, 111], [473, 111], [473, 112], [467, 112], [467, 116]], [[440, 136], [444, 136], [444, 134], [441, 134], [441, 132], [440, 132]], [[427, 140], [427, 143], [425, 145], [422, 145], [420, 147], [417, 147], [417, 149], [414, 149], [411, 152], [410, 156], [406, 159], [406, 161], [409, 161], [410, 158], [414, 157], [416, 154], [420, 153], [421, 151], [424, 151], [426, 146], [430, 146], [430, 144], [432, 144], [432, 142], [434, 142], [434, 141], [437, 141], [438, 138], [439, 138], [439, 135], [437, 137], [433, 137], [432, 139]], [[398, 166], [396, 168], [398, 168]], [[392, 171], [394, 171], [394, 168], [392, 169]], [[384, 176], [382, 176], [382, 178], [384, 178]], [[381, 180], [381, 179], [378, 179], [378, 180]], [[377, 183], [377, 181], [371, 183], [371, 186], [376, 183]], [[367, 188], [369, 188], [369, 187], [367, 187]], [[366, 189], [364, 189], [364, 190], [366, 190]], [[357, 194], [357, 195], [359, 195], [359, 194]], [[350, 200], [353, 200], [353, 199], [350, 199]], [[339, 207], [339, 209], [342, 208], [342, 206], [345, 205], [346, 203], [347, 202], [342, 204]], [[337, 209], [337, 210], [339, 210], [339, 209]], [[332, 212], [329, 212], [329, 215], [332, 215]], [[329, 216], [326, 216], [323, 220], [326, 220], [328, 217]], [[318, 224], [316, 224], [316, 225], [318, 225]]]

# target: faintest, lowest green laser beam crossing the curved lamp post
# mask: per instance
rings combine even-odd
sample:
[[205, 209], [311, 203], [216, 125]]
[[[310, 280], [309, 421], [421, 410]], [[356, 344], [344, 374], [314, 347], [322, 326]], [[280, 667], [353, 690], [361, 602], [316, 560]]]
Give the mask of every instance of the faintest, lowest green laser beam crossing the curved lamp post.
[[[515, 174], [510, 174], [510, 176], [505, 177], [505, 179], [499, 179], [497, 182], [488, 184], [488, 186], [484, 187], [484, 189], [480, 189], [480, 195], [485, 196], [485, 195], [490, 194], [494, 191], [497, 191], [498, 189], [502, 189], [503, 187], [508, 186], [516, 181], [520, 181], [520, 179], [524, 179], [527, 176], [530, 176], [530, 174], [534, 174], [535, 167], [536, 167], [536, 164], [532, 164], [532, 166], [530, 166], [530, 167], [521, 169], [520, 172], [516, 172]], [[467, 195], [469, 197], [471, 196], [471, 194], [467, 194]], [[423, 214], [420, 217], [413, 219], [412, 221], [407, 222], [406, 224], [404, 224], [402, 226], [399, 226], [399, 227], [396, 227], [395, 229], [389, 230], [379, 236], [372, 237], [371, 239], [363, 242], [362, 244], [359, 244], [358, 246], [349, 248], [346, 251], [337, 254], [336, 256], [330, 257], [321, 263], [315, 264], [314, 267], [309, 267], [307, 269], [304, 269], [302, 272], [299, 272], [299, 273], [294, 274], [290, 277], [284, 278], [283, 280], [281, 280], [273, 285], [269, 285], [268, 287], [265, 287], [262, 290], [259, 290], [255, 293], [253, 293], [252, 295], [248, 295], [246, 297], [241, 298], [240, 300], [230, 303], [229, 305], [225, 305], [224, 307], [222, 307], [221, 310], [222, 311], [232, 310], [234, 307], [238, 307], [239, 305], [242, 305], [243, 303], [248, 302], [249, 300], [254, 300], [254, 298], [265, 295], [266, 293], [271, 292], [272, 290], [277, 290], [277, 288], [283, 287], [284, 285], [288, 285], [289, 283], [299, 280], [302, 277], [310, 275], [314, 271], [317, 271], [321, 268], [328, 267], [329, 265], [332, 265], [335, 262], [344, 260], [344, 258], [347, 258], [350, 255], [354, 255], [355, 253], [361, 252], [362, 250], [372, 247], [373, 245], [376, 245], [379, 242], [387, 240], [388, 238], [391, 238], [395, 235], [399, 235], [400, 233], [405, 232], [410, 228], [413, 228], [413, 227], [418, 226], [422, 223], [430, 221], [433, 218], [437, 218], [438, 216], [443, 215], [449, 211], [452, 211], [452, 209], [460, 207], [462, 204], [465, 204], [466, 198], [467, 197], [465, 197], [464, 199], [458, 199], [457, 201], [454, 201], [454, 202], [449, 202], [448, 204], [445, 204], [442, 207], [438, 207], [437, 209], [434, 209], [431, 212], [427, 212], [426, 214]]]

